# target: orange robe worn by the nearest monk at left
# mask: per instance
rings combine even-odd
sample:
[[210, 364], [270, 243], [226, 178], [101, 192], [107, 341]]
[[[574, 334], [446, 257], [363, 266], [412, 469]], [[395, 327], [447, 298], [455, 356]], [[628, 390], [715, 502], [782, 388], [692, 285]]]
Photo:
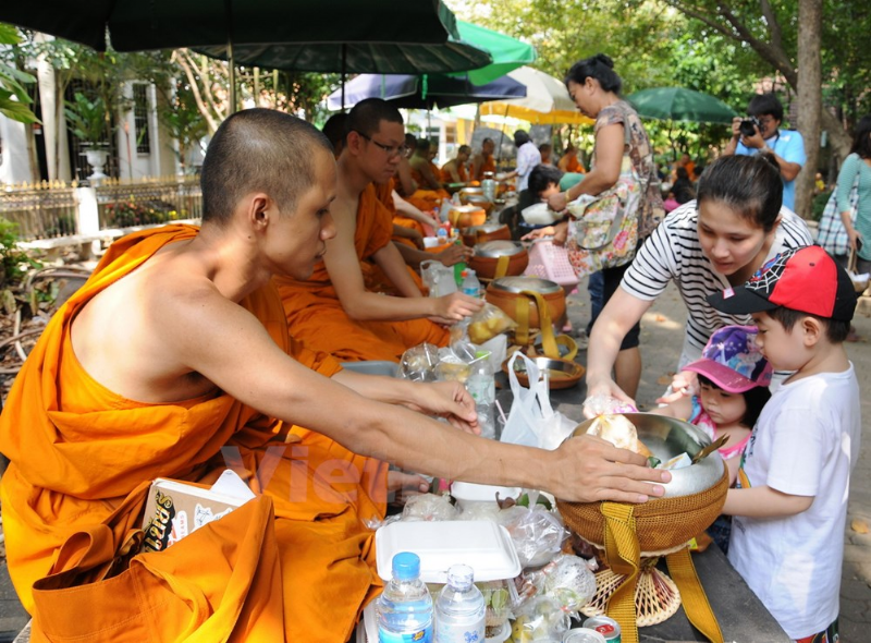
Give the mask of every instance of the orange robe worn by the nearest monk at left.
[[[54, 635], [63, 630], [78, 636], [90, 628], [88, 641], [138, 643], [146, 639], [142, 629], [124, 623], [140, 622], [146, 609], [148, 623], [159, 632], [149, 640], [182, 641], [197, 631], [210, 641], [346, 641], [361, 607], [381, 586], [373, 532], [364, 521], [384, 515], [382, 464], [265, 417], [220, 390], [165, 404], [127, 400], [91, 379], [77, 362], [70, 340], [75, 314], [165, 244], [196, 232], [168, 226], [116, 241], [51, 319], [15, 378], [0, 415], [0, 450], [11, 460], [0, 484], [10, 574], [34, 614], [34, 582], [76, 565], [58, 558], [59, 547], [74, 533], [100, 527], [125, 497], [158, 476], [211, 483], [232, 462], [262, 496], [252, 509], [238, 509], [245, 512], [235, 522], [207, 525], [188, 536], [187, 545], [182, 541], [168, 551], [136, 556], [131, 574], [154, 570], [138, 599], [118, 596], [84, 612], [72, 602], [69, 612], [52, 616], [40, 611], [36, 593], [34, 641], [44, 640], [45, 621]], [[341, 368], [289, 337], [272, 284], [240, 305], [305, 365], [323, 375]], [[287, 444], [298, 439], [292, 432], [312, 439]], [[222, 452], [223, 447], [230, 450]], [[363, 469], [354, 471], [355, 465]], [[352, 482], [336, 482], [336, 470]], [[138, 514], [123, 519], [134, 526], [142, 520]], [[254, 533], [228, 533], [240, 522]], [[165, 581], [156, 587], [152, 577]], [[107, 581], [105, 590], [113, 582]], [[158, 617], [147, 598], [161, 600]]]

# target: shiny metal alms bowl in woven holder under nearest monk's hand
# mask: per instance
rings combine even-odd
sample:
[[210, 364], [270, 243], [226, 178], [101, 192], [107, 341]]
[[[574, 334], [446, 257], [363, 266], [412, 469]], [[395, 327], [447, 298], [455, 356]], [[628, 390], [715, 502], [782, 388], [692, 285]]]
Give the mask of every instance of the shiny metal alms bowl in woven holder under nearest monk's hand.
[[[703, 447], [711, 444], [708, 435], [697, 426], [652, 413], [624, 413], [638, 429], [638, 437], [653, 454], [663, 462], [680, 453], [692, 458]], [[584, 435], [592, 420], [579, 424], [572, 435]], [[665, 498], [689, 496], [704, 492], [723, 477], [725, 464], [720, 453], [714, 451], [700, 462], [672, 471], [672, 482], [663, 484]]]

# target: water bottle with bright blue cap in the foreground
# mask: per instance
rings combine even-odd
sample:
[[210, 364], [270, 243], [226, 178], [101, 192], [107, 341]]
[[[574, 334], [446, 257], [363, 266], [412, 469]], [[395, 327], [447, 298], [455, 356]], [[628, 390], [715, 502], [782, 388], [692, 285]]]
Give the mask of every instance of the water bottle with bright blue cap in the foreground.
[[376, 603], [379, 643], [432, 643], [432, 597], [420, 580], [420, 558], [393, 557], [393, 579]]

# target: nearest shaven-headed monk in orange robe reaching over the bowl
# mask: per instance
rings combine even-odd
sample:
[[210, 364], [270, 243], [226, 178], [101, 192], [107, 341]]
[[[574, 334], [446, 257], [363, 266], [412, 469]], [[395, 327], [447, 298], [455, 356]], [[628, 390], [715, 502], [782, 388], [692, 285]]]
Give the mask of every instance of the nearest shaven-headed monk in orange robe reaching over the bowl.
[[[580, 501], [663, 493], [647, 481], [667, 472], [593, 437], [540, 451], [378, 401], [474, 423], [459, 385], [444, 396], [311, 369], [329, 359], [293, 345], [271, 284], [305, 279], [335, 234], [335, 161], [309, 124], [230, 117], [201, 183], [201, 228], [115, 242], [46, 327], [0, 415], [7, 560], [35, 641], [347, 641], [381, 586], [366, 524], [383, 517], [383, 468], [355, 478], [343, 457], [296, 442], [294, 424], [441, 477]], [[228, 465], [254, 500], [135, 555], [151, 480], [211, 484]]]

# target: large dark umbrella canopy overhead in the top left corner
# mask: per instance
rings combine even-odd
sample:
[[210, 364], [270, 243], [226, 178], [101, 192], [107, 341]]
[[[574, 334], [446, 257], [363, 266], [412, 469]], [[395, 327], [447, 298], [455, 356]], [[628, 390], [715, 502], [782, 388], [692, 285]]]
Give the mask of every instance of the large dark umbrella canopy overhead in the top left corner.
[[441, 0], [39, 0], [0, 2], [0, 21], [106, 50], [228, 43], [418, 43], [458, 38]]

